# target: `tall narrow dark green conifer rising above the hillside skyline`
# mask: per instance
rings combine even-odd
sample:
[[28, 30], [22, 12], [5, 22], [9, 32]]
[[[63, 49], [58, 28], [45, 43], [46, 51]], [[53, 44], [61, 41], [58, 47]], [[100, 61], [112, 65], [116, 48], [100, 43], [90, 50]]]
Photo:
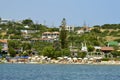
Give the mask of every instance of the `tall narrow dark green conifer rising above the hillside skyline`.
[[65, 49], [68, 47], [68, 41], [67, 41], [67, 31], [65, 29], [66, 27], [66, 19], [63, 18], [61, 23], [61, 31], [60, 31], [60, 41], [61, 41], [61, 48]]

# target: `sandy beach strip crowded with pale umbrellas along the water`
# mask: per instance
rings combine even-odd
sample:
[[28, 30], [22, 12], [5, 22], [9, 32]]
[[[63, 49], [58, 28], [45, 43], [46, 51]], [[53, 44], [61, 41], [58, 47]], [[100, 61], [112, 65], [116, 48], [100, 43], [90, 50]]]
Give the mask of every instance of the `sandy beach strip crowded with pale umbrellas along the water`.
[[120, 61], [115, 61], [115, 60], [102, 61], [102, 59], [93, 59], [93, 58], [82, 59], [82, 58], [70, 58], [70, 57], [58, 57], [58, 59], [51, 59], [46, 56], [1, 59], [0, 63], [120, 65]]

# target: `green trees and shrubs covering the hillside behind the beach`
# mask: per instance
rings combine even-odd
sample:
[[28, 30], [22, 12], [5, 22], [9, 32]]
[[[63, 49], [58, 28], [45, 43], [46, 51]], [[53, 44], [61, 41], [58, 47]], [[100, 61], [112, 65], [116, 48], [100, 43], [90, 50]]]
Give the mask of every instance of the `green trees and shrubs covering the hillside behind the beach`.
[[[66, 19], [63, 18], [60, 25], [59, 40], [49, 43], [40, 40], [32, 41], [32, 39], [40, 39], [43, 32], [59, 31], [59, 28], [49, 28], [45, 25], [34, 23], [31, 19], [25, 19], [21, 22], [8, 21], [2, 23], [1, 21], [2, 19], [0, 18], [0, 39], [8, 39], [8, 51], [11, 57], [16, 56], [16, 54], [28, 56], [31, 53], [51, 58], [72, 56], [69, 48], [72, 46], [78, 49], [77, 57], [84, 58], [86, 53], [80, 51], [82, 47], [81, 43], [86, 43], [88, 51], [93, 52], [95, 51], [94, 46], [106, 46], [108, 41], [120, 42], [120, 24], [95, 25], [90, 32], [77, 34], [77, 30], [82, 29], [82, 27], [77, 26], [74, 32], [68, 32], [65, 29]], [[21, 30], [30, 30], [34, 32], [22, 33]], [[120, 56], [120, 52], [117, 51], [119, 50], [119, 45], [112, 47], [114, 47], [115, 51], [111, 52], [111, 54], [114, 58], [118, 58]], [[0, 50], [1, 49], [0, 47]]]

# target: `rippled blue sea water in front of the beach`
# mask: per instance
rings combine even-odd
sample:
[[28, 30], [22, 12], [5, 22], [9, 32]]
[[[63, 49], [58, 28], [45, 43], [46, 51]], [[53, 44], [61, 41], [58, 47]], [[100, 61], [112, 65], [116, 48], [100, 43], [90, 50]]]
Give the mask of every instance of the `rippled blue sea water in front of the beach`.
[[0, 64], [0, 80], [120, 80], [120, 66]]

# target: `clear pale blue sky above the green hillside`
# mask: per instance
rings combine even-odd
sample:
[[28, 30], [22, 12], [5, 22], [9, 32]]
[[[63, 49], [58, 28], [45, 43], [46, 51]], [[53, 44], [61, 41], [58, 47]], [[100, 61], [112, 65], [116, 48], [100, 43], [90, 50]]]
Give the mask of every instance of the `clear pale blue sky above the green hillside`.
[[58, 27], [120, 23], [120, 0], [0, 0], [0, 17]]

